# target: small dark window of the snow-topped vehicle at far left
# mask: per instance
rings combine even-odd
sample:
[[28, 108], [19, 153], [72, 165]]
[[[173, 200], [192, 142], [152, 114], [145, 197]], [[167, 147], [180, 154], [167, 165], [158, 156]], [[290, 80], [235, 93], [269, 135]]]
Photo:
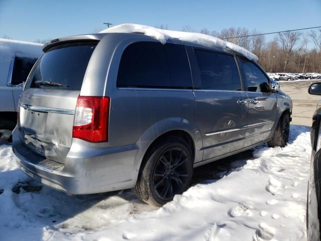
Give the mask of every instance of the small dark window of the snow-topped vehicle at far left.
[[37, 59], [16, 57], [12, 72], [11, 83], [21, 84], [26, 82], [29, 72], [36, 63]]

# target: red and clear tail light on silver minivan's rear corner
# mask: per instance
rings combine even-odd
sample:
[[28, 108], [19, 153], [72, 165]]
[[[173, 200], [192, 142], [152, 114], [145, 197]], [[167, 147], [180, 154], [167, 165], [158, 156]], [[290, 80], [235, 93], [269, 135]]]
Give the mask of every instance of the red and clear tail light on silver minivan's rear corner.
[[107, 142], [109, 105], [109, 97], [79, 96], [72, 137], [88, 142]]

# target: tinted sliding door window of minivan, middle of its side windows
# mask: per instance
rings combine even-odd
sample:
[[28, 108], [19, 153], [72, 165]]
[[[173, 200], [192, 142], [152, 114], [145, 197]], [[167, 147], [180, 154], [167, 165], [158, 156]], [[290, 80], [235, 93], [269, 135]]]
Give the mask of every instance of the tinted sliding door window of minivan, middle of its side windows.
[[202, 89], [241, 90], [239, 72], [233, 56], [195, 50], [201, 71]]

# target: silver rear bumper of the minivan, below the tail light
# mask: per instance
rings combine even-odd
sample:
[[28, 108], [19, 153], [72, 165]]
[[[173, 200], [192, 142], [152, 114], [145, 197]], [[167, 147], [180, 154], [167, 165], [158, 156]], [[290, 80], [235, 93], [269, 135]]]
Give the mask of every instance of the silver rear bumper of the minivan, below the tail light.
[[[91, 194], [132, 188], [140, 161], [135, 144], [93, 149], [75, 139], [64, 164], [49, 161], [30, 151], [20, 132], [13, 132], [13, 152], [19, 168], [44, 185], [71, 194]], [[57, 168], [58, 167], [58, 168]]]

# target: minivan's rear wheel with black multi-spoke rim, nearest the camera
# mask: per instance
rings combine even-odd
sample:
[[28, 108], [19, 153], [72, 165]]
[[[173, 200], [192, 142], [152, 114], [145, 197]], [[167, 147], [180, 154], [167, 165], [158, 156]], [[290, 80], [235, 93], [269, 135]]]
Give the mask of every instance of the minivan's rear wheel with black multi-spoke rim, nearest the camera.
[[189, 145], [182, 138], [168, 137], [146, 153], [133, 191], [143, 202], [162, 206], [188, 188], [192, 174]]

